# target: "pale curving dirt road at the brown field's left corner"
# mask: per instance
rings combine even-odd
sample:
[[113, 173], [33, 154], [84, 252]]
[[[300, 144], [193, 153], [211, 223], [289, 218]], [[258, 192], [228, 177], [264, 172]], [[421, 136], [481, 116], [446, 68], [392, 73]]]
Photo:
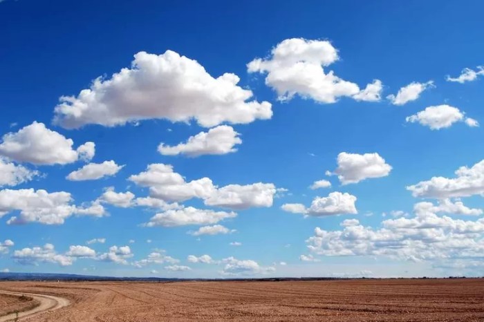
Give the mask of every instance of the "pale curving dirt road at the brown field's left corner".
[[8, 291], [0, 291], [1, 294], [9, 294], [15, 296], [30, 296], [33, 299], [39, 301], [40, 305], [32, 308], [31, 310], [27, 310], [24, 312], [19, 312], [18, 316], [15, 313], [8, 314], [6, 316], [0, 316], [0, 322], [4, 321], [12, 321], [15, 320], [17, 317], [21, 320], [22, 318], [37, 316], [37, 314], [41, 314], [45, 311], [52, 311], [57, 310], [61, 307], [69, 305], [68, 299], [64, 299], [59, 296], [52, 296], [52, 295], [44, 295], [44, 294], [33, 294], [33, 293], [19, 293], [19, 292], [8, 292]]

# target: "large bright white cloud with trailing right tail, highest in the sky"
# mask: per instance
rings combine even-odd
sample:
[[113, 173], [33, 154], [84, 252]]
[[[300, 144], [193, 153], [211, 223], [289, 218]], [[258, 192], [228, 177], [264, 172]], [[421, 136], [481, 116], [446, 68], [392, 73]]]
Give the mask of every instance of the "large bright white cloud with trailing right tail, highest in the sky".
[[266, 85], [279, 95], [279, 100], [291, 100], [295, 95], [319, 103], [334, 103], [339, 97], [378, 101], [382, 84], [377, 79], [360, 90], [355, 83], [337, 77], [324, 68], [339, 59], [329, 41], [286, 39], [277, 44], [267, 59], [257, 58], [247, 65], [249, 73], [267, 73]]

